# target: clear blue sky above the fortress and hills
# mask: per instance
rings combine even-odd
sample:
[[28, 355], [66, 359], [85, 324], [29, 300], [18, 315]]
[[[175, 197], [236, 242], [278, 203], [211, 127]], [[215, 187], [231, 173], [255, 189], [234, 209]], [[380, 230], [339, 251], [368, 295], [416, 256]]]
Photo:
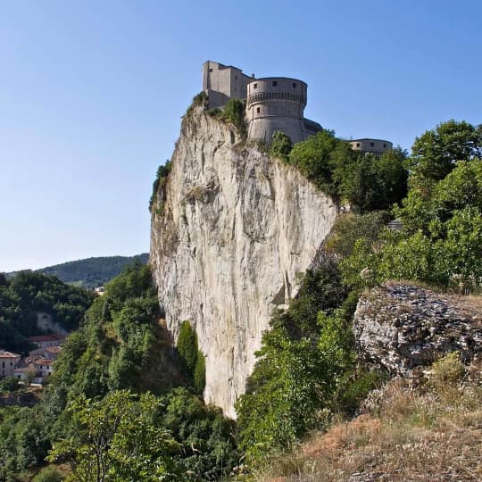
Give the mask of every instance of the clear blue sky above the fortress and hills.
[[410, 148], [482, 122], [482, 2], [0, 0], [0, 271], [148, 251], [151, 185], [211, 59]]

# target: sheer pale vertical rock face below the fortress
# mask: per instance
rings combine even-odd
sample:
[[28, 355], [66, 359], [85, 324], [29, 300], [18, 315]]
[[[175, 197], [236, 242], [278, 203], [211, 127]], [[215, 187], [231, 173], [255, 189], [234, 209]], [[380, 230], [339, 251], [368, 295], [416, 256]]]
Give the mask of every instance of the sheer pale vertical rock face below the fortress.
[[270, 313], [296, 294], [336, 217], [328, 196], [234, 128], [200, 108], [183, 120], [154, 202], [151, 264], [174, 338], [183, 320], [196, 330], [207, 403], [236, 416]]

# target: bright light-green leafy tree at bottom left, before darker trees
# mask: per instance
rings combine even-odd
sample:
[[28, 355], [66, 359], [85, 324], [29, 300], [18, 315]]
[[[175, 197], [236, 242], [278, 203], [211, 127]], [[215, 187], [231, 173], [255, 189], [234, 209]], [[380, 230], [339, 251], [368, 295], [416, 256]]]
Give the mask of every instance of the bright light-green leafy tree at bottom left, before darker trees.
[[66, 436], [57, 441], [47, 460], [68, 460], [68, 480], [172, 480], [179, 447], [156, 423], [161, 404], [154, 395], [137, 398], [112, 392], [101, 401], [79, 397], [69, 406]]

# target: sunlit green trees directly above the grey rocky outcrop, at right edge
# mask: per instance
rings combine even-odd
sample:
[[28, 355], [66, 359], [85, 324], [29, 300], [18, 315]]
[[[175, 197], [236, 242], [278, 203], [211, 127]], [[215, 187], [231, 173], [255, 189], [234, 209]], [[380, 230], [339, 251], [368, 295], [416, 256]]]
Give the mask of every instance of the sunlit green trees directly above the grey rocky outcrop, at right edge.
[[[411, 188], [402, 206], [394, 210], [403, 231], [381, 230], [377, 238], [359, 237], [353, 253], [341, 263], [346, 284], [363, 287], [393, 278], [453, 287], [463, 293], [480, 289], [482, 160], [468, 132], [473, 137], [478, 129], [450, 121], [424, 135], [424, 142], [440, 137], [433, 140], [434, 145], [422, 149], [422, 137], [416, 141], [412, 150], [419, 154], [416, 161], [411, 159]], [[422, 156], [428, 153], [433, 154], [430, 159]], [[437, 179], [443, 172], [447, 172], [445, 178]]]

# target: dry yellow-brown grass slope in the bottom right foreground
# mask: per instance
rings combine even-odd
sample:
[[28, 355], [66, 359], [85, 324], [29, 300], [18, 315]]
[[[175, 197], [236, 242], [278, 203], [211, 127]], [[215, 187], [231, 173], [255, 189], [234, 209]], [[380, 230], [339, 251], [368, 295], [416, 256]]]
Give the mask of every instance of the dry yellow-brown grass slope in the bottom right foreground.
[[482, 364], [454, 379], [438, 362], [426, 386], [395, 379], [363, 413], [270, 462], [262, 482], [482, 480]]

